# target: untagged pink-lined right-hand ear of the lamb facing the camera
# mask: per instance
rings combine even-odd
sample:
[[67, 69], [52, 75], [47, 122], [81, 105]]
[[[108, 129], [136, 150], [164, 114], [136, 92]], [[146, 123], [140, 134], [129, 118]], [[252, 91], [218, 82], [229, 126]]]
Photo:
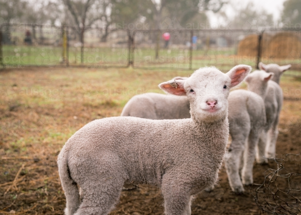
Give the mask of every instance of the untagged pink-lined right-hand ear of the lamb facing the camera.
[[231, 78], [231, 84], [229, 87], [234, 87], [242, 82], [251, 70], [251, 66], [244, 64], [233, 67], [229, 72], [226, 73]]

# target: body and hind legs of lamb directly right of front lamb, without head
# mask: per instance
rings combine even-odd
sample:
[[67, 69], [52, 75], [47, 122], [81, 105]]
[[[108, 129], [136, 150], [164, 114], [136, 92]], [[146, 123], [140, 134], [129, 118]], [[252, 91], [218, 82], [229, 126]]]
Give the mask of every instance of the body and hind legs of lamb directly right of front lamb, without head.
[[[265, 126], [265, 106], [261, 96], [247, 90], [230, 92], [228, 106], [229, 132], [232, 142], [225, 154], [225, 167], [230, 187], [236, 194], [244, 185], [253, 184], [253, 164], [262, 127]], [[241, 179], [239, 170], [241, 170]]]

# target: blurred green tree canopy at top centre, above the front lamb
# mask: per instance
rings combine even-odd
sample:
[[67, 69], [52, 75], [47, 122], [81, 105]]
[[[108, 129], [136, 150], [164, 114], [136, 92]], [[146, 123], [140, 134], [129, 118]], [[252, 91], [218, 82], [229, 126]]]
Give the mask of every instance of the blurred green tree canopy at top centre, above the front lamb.
[[223, 0], [112, 0], [112, 20], [134, 23], [143, 20], [149, 29], [158, 29], [166, 17], [175, 18], [181, 26], [194, 17], [206, 20], [206, 10], [219, 11]]

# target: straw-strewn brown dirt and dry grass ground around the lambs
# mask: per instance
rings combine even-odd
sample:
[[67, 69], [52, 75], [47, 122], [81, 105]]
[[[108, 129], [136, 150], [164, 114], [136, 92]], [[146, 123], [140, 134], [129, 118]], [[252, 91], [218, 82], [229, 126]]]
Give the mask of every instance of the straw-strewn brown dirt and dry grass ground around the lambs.
[[[56, 160], [67, 139], [92, 120], [118, 116], [133, 95], [160, 92], [159, 83], [190, 73], [117, 68], [0, 71], [0, 214], [63, 214], [66, 202]], [[283, 77], [281, 87], [284, 105], [276, 148], [279, 158], [301, 152], [301, 80]], [[293, 156], [285, 169], [301, 173], [300, 162], [300, 156]], [[271, 167], [275, 168], [272, 161], [254, 165], [254, 183], [261, 184]], [[253, 197], [257, 187], [246, 187], [244, 194], [236, 195], [223, 167], [216, 189], [195, 197], [192, 214], [259, 214]], [[126, 187], [110, 214], [159, 215], [163, 211], [160, 190], [139, 185]]]

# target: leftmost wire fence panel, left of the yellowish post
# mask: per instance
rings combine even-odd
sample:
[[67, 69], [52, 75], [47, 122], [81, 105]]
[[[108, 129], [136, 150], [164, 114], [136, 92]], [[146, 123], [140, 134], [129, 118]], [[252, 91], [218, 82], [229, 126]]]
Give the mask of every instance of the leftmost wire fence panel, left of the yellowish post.
[[10, 31], [10, 37], [2, 33], [2, 64], [5, 67], [55, 66], [62, 61], [60, 27], [13, 24]]

